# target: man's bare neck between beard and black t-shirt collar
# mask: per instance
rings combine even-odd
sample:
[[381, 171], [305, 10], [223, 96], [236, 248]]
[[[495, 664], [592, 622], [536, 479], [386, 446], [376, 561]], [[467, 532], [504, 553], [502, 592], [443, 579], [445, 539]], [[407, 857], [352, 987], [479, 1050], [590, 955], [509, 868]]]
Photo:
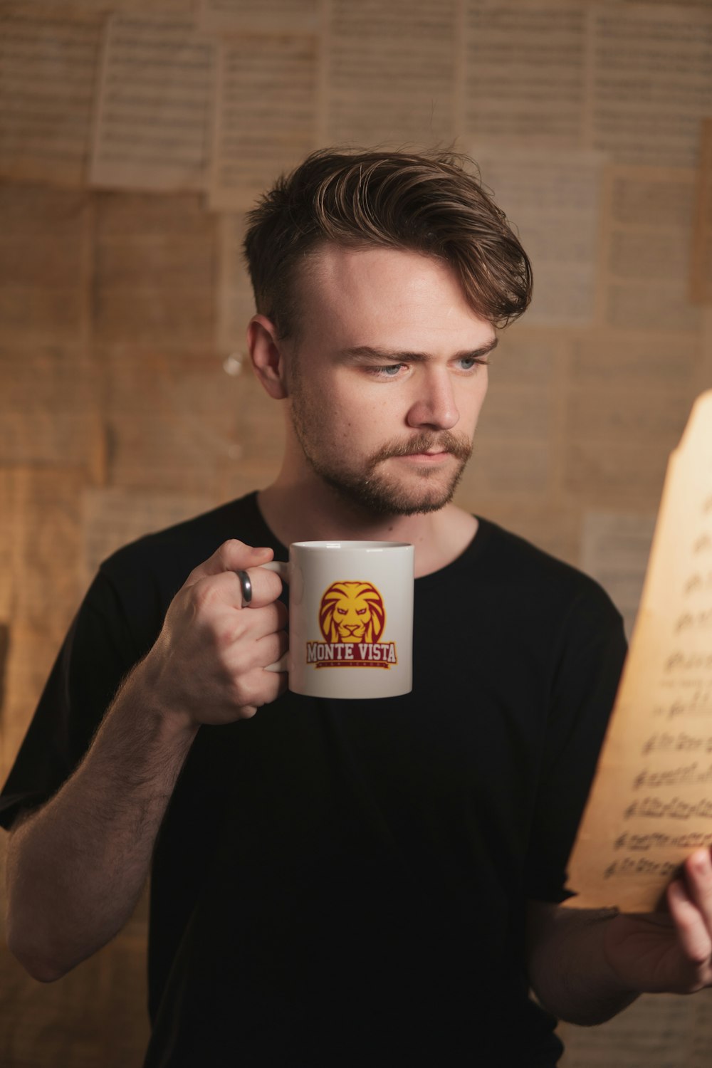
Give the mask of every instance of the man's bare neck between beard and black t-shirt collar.
[[452, 563], [470, 544], [477, 521], [447, 504], [413, 516], [375, 516], [344, 500], [313, 472], [284, 469], [258, 493], [267, 525], [283, 545], [292, 541], [350, 539], [407, 541], [415, 547], [415, 575], [428, 575]]

